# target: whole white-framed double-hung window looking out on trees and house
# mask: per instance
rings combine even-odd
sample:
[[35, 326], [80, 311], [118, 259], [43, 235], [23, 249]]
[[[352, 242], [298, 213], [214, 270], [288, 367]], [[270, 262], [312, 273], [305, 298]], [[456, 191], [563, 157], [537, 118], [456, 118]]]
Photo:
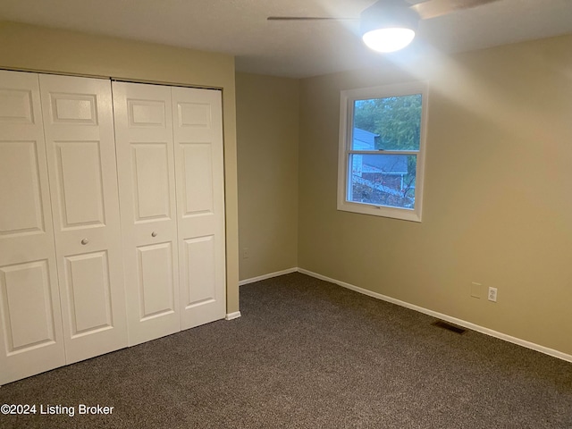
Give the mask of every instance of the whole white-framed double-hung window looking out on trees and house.
[[341, 91], [338, 210], [421, 222], [425, 84]]

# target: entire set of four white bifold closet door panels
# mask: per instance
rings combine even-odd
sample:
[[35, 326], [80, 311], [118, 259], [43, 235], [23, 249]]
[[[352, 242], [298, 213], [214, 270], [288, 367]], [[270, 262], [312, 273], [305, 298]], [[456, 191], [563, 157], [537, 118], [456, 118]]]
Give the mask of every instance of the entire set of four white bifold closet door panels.
[[222, 319], [223, 198], [221, 91], [0, 71], [0, 384]]

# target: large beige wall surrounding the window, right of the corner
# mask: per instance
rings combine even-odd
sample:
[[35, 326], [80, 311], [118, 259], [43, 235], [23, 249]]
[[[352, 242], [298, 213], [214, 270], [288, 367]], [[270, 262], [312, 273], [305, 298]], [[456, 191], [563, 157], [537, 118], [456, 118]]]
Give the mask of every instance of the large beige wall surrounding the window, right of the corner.
[[[299, 266], [572, 354], [570, 46], [303, 80]], [[430, 88], [423, 223], [337, 211], [341, 89], [412, 79]]]

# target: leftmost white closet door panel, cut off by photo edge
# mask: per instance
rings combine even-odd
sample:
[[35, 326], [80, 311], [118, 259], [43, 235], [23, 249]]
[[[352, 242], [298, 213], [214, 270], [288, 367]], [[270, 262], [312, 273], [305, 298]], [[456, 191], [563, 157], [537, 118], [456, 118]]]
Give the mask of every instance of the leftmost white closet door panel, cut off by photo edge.
[[38, 75], [0, 71], [0, 384], [65, 363]]

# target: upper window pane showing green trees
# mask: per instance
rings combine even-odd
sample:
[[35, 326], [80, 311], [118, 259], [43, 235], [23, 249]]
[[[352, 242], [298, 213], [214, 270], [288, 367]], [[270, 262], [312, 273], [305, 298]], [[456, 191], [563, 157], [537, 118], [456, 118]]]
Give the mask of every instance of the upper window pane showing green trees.
[[419, 150], [421, 94], [354, 101], [353, 150]]

